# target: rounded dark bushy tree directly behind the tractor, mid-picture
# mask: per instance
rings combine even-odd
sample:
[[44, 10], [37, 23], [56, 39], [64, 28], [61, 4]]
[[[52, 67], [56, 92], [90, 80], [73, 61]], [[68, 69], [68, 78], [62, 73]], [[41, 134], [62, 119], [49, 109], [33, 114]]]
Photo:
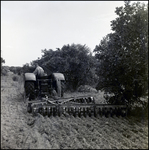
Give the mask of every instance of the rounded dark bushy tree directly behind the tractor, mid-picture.
[[86, 45], [64, 45], [56, 51], [52, 49], [42, 50], [41, 59], [38, 62], [47, 74], [53, 72], [63, 73], [66, 79], [66, 89], [76, 90], [78, 86], [95, 84], [95, 58]]

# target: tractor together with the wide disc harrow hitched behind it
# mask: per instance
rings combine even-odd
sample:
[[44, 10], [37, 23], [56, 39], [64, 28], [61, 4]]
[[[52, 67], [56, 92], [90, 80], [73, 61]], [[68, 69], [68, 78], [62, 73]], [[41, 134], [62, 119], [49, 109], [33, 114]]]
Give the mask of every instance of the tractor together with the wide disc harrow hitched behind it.
[[64, 75], [53, 73], [36, 79], [33, 73], [24, 75], [27, 111], [43, 116], [126, 116], [126, 105], [96, 104], [92, 96], [64, 98]]

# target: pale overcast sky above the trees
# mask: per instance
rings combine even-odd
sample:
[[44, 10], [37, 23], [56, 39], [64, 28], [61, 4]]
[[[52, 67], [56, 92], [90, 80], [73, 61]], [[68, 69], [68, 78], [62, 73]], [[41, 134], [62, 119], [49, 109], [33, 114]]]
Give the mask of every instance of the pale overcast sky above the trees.
[[[147, 3], [147, 1], [146, 1]], [[1, 56], [6, 66], [41, 58], [41, 50], [86, 44], [91, 51], [111, 33], [123, 1], [1, 1]]]

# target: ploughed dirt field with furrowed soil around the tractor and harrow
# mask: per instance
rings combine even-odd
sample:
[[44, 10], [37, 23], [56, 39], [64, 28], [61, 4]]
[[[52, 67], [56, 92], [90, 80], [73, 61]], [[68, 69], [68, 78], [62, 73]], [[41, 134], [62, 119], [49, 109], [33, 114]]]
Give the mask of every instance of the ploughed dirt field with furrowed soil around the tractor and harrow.
[[[1, 149], [148, 149], [145, 120], [33, 117], [26, 112], [22, 78], [13, 81], [13, 76], [1, 77]], [[102, 93], [94, 96], [99, 103], [104, 101]]]

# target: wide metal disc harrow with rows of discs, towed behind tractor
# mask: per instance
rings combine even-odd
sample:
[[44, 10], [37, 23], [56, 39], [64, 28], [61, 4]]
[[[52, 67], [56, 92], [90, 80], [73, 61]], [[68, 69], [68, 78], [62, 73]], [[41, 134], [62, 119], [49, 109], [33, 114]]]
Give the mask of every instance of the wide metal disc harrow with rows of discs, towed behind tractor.
[[43, 116], [73, 115], [74, 117], [113, 117], [127, 116], [125, 105], [95, 104], [93, 97], [65, 98], [60, 100], [42, 99], [42, 101], [29, 101], [28, 112]]

